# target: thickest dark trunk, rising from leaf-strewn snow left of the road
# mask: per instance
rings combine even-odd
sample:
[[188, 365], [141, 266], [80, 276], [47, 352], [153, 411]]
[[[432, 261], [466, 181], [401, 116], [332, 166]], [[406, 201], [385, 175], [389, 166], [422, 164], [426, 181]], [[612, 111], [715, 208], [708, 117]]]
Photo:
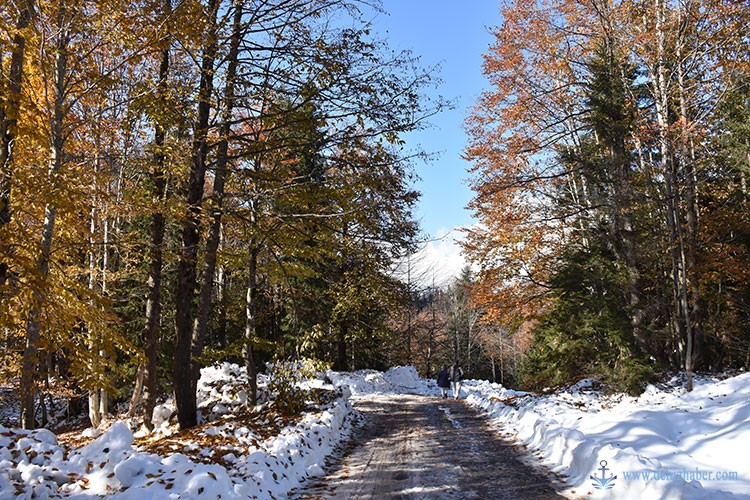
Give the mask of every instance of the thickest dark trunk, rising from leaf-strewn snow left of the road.
[[187, 213], [182, 227], [182, 249], [177, 265], [175, 290], [174, 378], [177, 420], [180, 428], [189, 429], [198, 422], [198, 403], [192, 371], [193, 300], [196, 288], [196, 266], [200, 243], [200, 215], [208, 156], [208, 129], [211, 116], [214, 62], [218, 49], [217, 15], [220, 0], [208, 3], [208, 35], [203, 51], [198, 89], [198, 116], [195, 125], [190, 178], [187, 187]]

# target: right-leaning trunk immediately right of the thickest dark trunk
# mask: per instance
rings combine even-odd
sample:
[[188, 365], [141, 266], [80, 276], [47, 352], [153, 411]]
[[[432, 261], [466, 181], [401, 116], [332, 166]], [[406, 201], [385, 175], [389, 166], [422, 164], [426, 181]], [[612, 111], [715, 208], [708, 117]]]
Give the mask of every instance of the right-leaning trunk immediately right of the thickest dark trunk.
[[222, 124], [216, 154], [216, 168], [214, 170], [214, 188], [211, 195], [211, 223], [208, 228], [206, 239], [206, 256], [204, 259], [202, 284], [198, 297], [198, 307], [193, 326], [192, 351], [193, 351], [193, 380], [197, 383], [200, 378], [200, 364], [195, 359], [203, 351], [204, 339], [208, 330], [209, 317], [211, 314], [211, 298], [213, 296], [214, 278], [216, 275], [216, 261], [221, 241], [221, 217], [224, 206], [224, 182], [229, 167], [229, 136], [232, 133], [232, 110], [234, 106], [234, 88], [237, 76], [237, 59], [239, 56], [241, 29], [242, 29], [242, 2], [234, 2], [234, 18], [232, 20], [232, 36], [230, 38], [229, 53], [227, 54], [228, 67], [226, 72], [226, 83], [224, 87], [224, 109], [222, 112]]

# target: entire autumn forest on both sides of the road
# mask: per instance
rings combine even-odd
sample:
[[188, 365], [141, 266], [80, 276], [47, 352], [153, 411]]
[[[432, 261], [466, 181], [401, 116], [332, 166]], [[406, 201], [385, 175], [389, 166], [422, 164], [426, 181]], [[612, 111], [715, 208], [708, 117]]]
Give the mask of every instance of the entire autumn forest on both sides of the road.
[[[637, 392], [750, 368], [750, 3], [508, 0], [466, 120], [468, 265], [404, 137], [449, 106], [356, 0], [0, 0], [0, 377], [198, 423], [202, 367], [411, 364]], [[409, 267], [410, 268], [410, 267]], [[688, 377], [688, 384], [690, 378]]]

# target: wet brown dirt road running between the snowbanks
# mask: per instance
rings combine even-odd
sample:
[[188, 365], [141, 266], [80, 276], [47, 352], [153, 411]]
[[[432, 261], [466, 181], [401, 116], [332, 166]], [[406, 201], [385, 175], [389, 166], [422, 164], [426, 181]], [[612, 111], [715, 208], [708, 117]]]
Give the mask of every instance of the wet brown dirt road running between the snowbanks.
[[290, 498], [559, 498], [460, 400], [377, 395], [355, 407], [365, 420], [342, 458]]

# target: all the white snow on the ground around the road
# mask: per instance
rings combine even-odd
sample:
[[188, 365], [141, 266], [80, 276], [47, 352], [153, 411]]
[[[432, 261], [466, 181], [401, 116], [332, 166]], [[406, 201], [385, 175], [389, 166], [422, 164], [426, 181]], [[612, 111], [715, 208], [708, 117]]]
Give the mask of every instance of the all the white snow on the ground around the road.
[[[152, 453], [135, 444], [137, 436], [146, 434], [142, 429], [134, 434], [123, 421], [87, 431], [93, 441], [77, 448], [63, 446], [47, 430], [0, 426], [0, 500], [283, 498], [322, 474], [326, 459], [346, 439], [351, 397], [439, 394], [433, 380], [420, 379], [410, 366], [385, 372], [328, 371], [300, 383], [337, 391], [327, 404], [283, 425], [269, 417], [253, 427], [232, 418], [233, 411], [243, 414], [245, 381], [244, 369], [237, 365], [204, 369], [199, 408], [207, 423], [170, 453]], [[265, 376], [259, 377], [261, 387], [267, 383]], [[750, 374], [702, 377], [691, 393], [683, 386], [674, 378], [649, 386], [636, 398], [603, 395], [591, 379], [552, 394], [467, 380], [461, 396], [485, 412], [499, 433], [524, 444], [555, 472], [568, 498], [750, 499], [750, 462], [744, 457], [750, 449]], [[451, 406], [442, 398], [435, 401], [460, 432]], [[261, 403], [256, 410], [272, 405]], [[150, 437], [177, 436], [172, 402], [154, 414], [158, 429]], [[258, 433], [274, 425], [274, 432]], [[633, 477], [644, 472], [648, 477]], [[708, 472], [733, 472], [737, 478], [707, 478]], [[596, 489], [594, 478], [610, 479], [611, 488]]]

